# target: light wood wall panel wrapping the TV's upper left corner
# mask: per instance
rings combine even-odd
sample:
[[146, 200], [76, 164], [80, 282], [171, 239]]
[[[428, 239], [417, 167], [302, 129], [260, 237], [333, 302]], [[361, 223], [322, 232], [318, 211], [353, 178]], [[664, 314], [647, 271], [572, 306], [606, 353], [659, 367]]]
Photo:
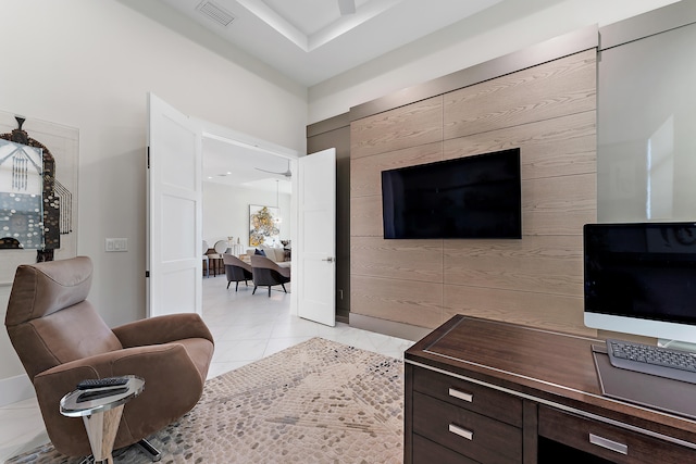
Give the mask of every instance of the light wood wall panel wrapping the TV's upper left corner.
[[382, 171], [443, 160], [443, 142], [427, 143], [352, 160], [350, 196], [382, 195]]

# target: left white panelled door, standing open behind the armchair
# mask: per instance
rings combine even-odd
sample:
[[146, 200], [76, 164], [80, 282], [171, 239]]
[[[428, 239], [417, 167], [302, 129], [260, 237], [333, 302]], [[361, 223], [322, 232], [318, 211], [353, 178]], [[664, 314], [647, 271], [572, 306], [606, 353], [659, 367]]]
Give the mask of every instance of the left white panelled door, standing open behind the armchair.
[[148, 93], [148, 316], [201, 313], [202, 127]]

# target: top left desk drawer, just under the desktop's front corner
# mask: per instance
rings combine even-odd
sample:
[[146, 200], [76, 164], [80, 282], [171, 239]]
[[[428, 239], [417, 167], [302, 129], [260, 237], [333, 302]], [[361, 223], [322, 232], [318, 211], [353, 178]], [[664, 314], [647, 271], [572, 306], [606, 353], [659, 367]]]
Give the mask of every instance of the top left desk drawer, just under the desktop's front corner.
[[522, 427], [522, 400], [501, 391], [423, 368], [413, 369], [413, 390]]

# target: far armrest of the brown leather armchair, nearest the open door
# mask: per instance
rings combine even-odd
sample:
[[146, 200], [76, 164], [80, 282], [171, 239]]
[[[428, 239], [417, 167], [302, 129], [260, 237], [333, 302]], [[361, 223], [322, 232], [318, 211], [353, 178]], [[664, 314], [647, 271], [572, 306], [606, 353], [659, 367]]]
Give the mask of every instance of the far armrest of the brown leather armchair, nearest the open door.
[[123, 348], [169, 343], [185, 338], [204, 338], [213, 342], [208, 326], [196, 313], [167, 314], [114, 327]]

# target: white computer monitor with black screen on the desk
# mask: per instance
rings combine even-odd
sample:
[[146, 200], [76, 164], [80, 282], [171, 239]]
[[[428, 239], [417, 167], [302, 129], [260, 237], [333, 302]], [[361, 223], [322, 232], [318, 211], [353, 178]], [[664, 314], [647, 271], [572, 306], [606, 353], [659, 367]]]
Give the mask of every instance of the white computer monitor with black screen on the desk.
[[696, 343], [696, 223], [587, 224], [587, 327]]

